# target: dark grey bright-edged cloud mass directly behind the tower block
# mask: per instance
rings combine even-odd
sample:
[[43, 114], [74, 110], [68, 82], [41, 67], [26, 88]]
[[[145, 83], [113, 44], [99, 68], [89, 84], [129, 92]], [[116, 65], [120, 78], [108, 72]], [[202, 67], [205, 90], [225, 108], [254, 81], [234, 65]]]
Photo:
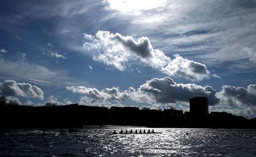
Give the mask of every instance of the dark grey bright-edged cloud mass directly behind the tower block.
[[208, 97], [209, 105], [219, 102], [215, 90], [210, 86], [175, 83], [169, 77], [154, 78], [142, 84], [139, 90], [150, 93], [158, 103], [189, 102], [189, 98]]

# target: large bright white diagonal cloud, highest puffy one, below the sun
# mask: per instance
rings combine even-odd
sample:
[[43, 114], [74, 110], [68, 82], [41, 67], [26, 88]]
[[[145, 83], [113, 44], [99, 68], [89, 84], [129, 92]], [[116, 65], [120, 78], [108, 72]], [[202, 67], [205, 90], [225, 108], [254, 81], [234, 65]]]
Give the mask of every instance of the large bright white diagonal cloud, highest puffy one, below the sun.
[[171, 60], [161, 50], [154, 49], [149, 38], [135, 40], [131, 36], [122, 36], [108, 31], [98, 31], [95, 36], [84, 33], [83, 49], [92, 54], [92, 58], [106, 65], [124, 70], [132, 61], [139, 60], [142, 64], [159, 69], [169, 76], [183, 77], [199, 81], [209, 77], [209, 70], [204, 64], [184, 59], [175, 55]]

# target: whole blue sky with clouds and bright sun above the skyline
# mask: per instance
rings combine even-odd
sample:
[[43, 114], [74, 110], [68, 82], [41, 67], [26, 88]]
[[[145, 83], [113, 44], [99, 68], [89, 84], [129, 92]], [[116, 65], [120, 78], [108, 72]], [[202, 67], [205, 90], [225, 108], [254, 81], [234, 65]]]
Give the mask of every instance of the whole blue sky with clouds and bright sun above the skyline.
[[0, 1], [0, 95], [256, 117], [256, 1]]

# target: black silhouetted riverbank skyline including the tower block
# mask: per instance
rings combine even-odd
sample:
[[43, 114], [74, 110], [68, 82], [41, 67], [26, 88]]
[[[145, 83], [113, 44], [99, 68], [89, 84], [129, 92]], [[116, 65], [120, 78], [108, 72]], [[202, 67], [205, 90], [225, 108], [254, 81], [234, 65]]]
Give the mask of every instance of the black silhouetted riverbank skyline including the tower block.
[[8, 104], [3, 100], [1, 97], [0, 128], [83, 128], [83, 125], [99, 125], [102, 128], [104, 125], [131, 125], [154, 128], [256, 129], [256, 118], [246, 119], [227, 112], [208, 113], [206, 97], [190, 98], [190, 112], [78, 104], [29, 107]]

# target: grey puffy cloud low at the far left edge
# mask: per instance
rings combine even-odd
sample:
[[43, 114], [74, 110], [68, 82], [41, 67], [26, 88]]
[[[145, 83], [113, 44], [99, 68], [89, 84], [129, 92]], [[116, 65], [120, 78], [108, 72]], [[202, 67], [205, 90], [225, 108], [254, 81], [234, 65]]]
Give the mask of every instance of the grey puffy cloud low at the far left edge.
[[17, 83], [14, 80], [4, 80], [4, 82], [0, 83], [0, 94], [43, 99], [43, 91], [36, 85]]

